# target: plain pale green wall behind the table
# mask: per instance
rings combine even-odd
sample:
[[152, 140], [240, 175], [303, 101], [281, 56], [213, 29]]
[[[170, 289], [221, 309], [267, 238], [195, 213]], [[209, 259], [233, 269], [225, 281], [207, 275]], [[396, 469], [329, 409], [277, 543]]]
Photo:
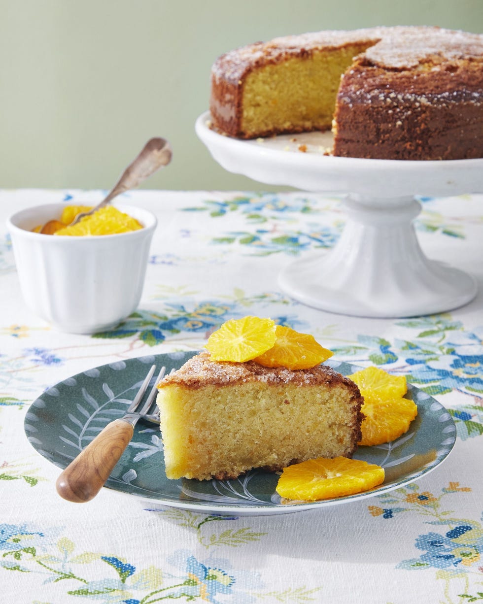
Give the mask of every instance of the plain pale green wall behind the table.
[[195, 135], [213, 60], [290, 33], [422, 24], [481, 33], [483, 0], [0, 0], [0, 187], [109, 188], [161, 135], [173, 162], [145, 187], [270, 190]]

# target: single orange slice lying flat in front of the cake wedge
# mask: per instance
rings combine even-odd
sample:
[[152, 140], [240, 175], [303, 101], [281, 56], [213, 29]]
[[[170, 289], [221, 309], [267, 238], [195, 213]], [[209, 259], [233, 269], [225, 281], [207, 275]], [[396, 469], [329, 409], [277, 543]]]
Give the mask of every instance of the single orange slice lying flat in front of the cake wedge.
[[319, 501], [355, 495], [384, 481], [384, 469], [346, 457], [319, 457], [284, 468], [276, 492], [285, 499]]

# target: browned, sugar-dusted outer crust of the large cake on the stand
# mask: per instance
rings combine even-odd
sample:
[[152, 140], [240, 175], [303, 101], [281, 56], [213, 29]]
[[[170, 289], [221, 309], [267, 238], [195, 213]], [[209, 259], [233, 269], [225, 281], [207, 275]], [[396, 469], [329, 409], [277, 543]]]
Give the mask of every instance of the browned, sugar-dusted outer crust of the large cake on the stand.
[[360, 44], [361, 52], [340, 83], [334, 155], [483, 157], [483, 35], [436, 27], [322, 31], [231, 51], [212, 69], [213, 126], [240, 138], [280, 133], [242, 129], [247, 75], [289, 57], [354, 44]]

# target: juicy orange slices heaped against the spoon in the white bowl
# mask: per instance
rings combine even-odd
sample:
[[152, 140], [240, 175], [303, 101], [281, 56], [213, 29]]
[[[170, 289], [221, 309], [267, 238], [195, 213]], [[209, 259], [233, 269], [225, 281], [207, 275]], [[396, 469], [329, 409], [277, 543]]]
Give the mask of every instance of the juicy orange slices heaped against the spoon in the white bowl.
[[66, 226], [60, 229], [56, 235], [70, 236], [94, 236], [94, 235], [114, 235], [117, 233], [127, 233], [128, 231], [137, 231], [143, 226], [128, 214], [108, 205], [100, 210], [81, 218], [75, 225]]

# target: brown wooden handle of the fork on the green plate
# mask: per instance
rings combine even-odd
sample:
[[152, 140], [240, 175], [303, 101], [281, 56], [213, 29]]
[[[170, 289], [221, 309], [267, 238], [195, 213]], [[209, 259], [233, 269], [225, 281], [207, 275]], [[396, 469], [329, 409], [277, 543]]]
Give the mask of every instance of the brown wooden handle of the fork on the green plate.
[[116, 419], [99, 432], [57, 478], [57, 493], [84, 503], [99, 493], [134, 434], [132, 423]]

